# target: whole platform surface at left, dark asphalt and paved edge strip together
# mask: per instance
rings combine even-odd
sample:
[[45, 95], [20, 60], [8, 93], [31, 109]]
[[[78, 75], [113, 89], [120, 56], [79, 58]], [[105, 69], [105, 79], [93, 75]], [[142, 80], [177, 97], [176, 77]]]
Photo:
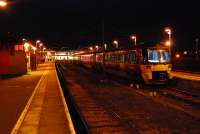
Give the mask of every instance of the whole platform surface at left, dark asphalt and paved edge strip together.
[[0, 79], [0, 133], [75, 133], [53, 63]]

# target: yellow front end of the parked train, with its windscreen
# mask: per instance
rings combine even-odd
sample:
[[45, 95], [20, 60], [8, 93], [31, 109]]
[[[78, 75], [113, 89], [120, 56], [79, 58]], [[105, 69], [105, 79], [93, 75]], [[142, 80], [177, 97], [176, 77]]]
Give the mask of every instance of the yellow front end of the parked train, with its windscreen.
[[166, 47], [149, 47], [143, 49], [141, 75], [146, 84], [166, 84], [172, 79], [171, 56]]

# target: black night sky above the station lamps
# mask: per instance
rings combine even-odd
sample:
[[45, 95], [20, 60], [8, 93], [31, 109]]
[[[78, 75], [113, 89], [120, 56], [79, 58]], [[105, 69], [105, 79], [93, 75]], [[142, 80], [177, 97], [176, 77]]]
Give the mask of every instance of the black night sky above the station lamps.
[[138, 42], [165, 40], [164, 27], [170, 26], [176, 47], [185, 49], [200, 37], [199, 13], [193, 0], [12, 0], [0, 10], [0, 32], [77, 47], [101, 42], [103, 20], [108, 43], [130, 43], [134, 33]]

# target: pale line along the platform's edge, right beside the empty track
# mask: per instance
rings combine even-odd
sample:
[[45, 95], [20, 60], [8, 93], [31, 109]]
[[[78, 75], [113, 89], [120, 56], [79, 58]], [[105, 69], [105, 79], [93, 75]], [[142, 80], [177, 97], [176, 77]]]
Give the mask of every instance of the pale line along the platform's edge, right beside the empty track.
[[71, 132], [71, 134], [76, 134], [75, 129], [74, 129], [74, 125], [72, 123], [72, 119], [71, 119], [71, 116], [70, 116], [70, 113], [69, 113], [69, 109], [67, 107], [67, 103], [66, 103], [63, 91], [62, 91], [62, 87], [61, 87], [60, 81], [58, 79], [57, 72], [55, 71], [55, 73], [56, 73], [56, 78], [57, 78], [56, 80], [57, 80], [57, 83], [58, 83], [58, 86], [59, 86], [59, 89], [60, 89], [60, 93], [61, 93], [61, 97], [62, 97], [62, 102], [63, 102], [64, 108], [65, 108], [65, 114], [66, 114], [66, 117], [67, 117], [67, 120], [68, 120], [68, 123], [69, 123], [70, 132]]

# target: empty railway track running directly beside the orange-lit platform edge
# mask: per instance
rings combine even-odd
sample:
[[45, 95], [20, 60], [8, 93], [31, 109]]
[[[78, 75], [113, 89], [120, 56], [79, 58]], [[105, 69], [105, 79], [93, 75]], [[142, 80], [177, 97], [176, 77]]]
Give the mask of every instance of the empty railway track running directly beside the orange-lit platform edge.
[[[84, 124], [89, 130], [89, 133], [118, 133], [129, 134], [133, 133], [130, 126], [124, 125], [122, 119], [112, 110], [105, 110], [100, 103], [88, 93], [86, 88], [77, 84], [73, 79], [73, 71], [70, 71], [62, 66], [63, 74], [65, 75], [66, 83], [70, 86], [70, 95], [76, 103], [79, 115], [84, 120]], [[81, 132], [83, 133], [83, 132]], [[134, 132], [136, 133], [136, 132]]]

